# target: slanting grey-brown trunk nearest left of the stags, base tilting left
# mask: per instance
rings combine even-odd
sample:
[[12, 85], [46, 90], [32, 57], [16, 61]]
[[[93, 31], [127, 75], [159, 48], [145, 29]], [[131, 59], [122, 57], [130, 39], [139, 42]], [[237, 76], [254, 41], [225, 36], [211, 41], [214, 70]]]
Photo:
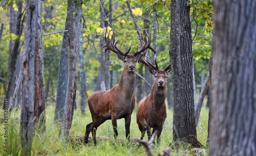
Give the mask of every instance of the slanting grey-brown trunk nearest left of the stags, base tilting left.
[[62, 117], [60, 138], [68, 142], [69, 132], [74, 114], [76, 98], [76, 81], [78, 57], [81, 38], [81, 13], [82, 1], [68, 1], [68, 88], [66, 93], [65, 108]]

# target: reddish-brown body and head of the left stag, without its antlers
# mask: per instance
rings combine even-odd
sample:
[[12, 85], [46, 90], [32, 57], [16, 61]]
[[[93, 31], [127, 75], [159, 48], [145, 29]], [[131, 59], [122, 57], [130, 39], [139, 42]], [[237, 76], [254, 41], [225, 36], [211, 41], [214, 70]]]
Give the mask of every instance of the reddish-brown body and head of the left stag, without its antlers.
[[[88, 142], [90, 132], [93, 134], [96, 145], [96, 130], [106, 120], [112, 120], [114, 137], [118, 136], [117, 119], [125, 120], [125, 135], [130, 138], [131, 115], [135, 108], [135, 66], [136, 57], [127, 55], [124, 59], [124, 69], [120, 76], [119, 84], [111, 90], [99, 90], [88, 97], [88, 105], [93, 122], [87, 125], [84, 142]], [[130, 66], [134, 66], [133, 70]]]

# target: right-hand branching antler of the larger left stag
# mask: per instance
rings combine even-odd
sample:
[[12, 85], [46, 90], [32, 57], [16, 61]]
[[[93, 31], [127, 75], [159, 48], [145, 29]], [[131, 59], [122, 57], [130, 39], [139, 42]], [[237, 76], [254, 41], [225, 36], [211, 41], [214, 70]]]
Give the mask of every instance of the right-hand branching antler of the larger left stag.
[[[140, 47], [138, 48], [137, 46], [137, 51], [135, 51], [134, 53], [135, 56], [139, 55], [142, 51], [145, 51], [146, 49], [151, 49], [156, 54], [156, 51], [150, 46], [151, 35], [148, 35], [147, 31], [145, 32], [146, 33], [144, 37], [142, 36], [141, 33], [141, 39], [138, 38], [140, 40]], [[146, 38], [148, 38], [148, 40]]]

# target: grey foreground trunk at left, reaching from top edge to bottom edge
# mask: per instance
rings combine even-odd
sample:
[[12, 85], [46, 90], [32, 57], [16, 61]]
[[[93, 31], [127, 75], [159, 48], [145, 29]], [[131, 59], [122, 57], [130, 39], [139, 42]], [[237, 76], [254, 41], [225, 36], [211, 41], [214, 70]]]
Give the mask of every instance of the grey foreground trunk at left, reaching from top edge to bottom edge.
[[20, 113], [20, 136], [22, 137], [22, 154], [30, 155], [32, 146], [34, 119], [34, 53], [36, 32], [37, 1], [26, 0], [26, 28], [23, 45], [23, 81], [22, 81], [22, 110]]

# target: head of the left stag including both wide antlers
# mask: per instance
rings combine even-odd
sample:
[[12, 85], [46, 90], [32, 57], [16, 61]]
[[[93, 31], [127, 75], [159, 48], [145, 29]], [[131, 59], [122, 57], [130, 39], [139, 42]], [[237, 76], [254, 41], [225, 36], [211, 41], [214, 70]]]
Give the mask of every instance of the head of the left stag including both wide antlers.
[[106, 47], [104, 52], [106, 50], [113, 51], [118, 56], [118, 58], [124, 62], [124, 68], [129, 72], [134, 72], [136, 62], [139, 59], [141, 59], [141, 57], [143, 56], [143, 51], [145, 51], [147, 48], [153, 49], [152, 47], [150, 47], [150, 42], [151, 42], [150, 35], [148, 35], [146, 33], [144, 37], [139, 39], [140, 46], [137, 47], [137, 50], [135, 51], [135, 53], [133, 55], [129, 55], [128, 53], [131, 50], [131, 44], [130, 44], [129, 49], [125, 53], [123, 53], [120, 49], [117, 48], [117, 43], [119, 42], [119, 40], [115, 40], [115, 33], [114, 33], [114, 31], [112, 31], [112, 32], [113, 32], [113, 35], [111, 37], [110, 37], [110, 33], [108, 35], [106, 33], [104, 34], [104, 40], [106, 43], [106, 45], [104, 45], [102, 47], [102, 48]]

